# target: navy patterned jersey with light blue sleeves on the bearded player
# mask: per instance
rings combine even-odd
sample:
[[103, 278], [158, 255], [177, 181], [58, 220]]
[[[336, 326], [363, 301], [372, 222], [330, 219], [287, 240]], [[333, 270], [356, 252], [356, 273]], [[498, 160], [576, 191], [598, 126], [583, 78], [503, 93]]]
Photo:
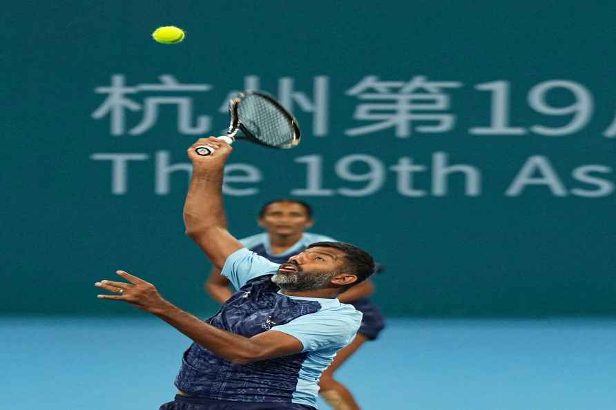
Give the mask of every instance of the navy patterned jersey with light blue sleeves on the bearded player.
[[353, 340], [362, 314], [338, 299], [283, 295], [270, 280], [277, 270], [278, 264], [247, 248], [229, 255], [222, 275], [238, 292], [207, 322], [246, 337], [287, 333], [300, 340], [302, 351], [242, 365], [193, 343], [175, 380], [178, 389], [211, 400], [316, 407], [318, 378], [336, 352]]

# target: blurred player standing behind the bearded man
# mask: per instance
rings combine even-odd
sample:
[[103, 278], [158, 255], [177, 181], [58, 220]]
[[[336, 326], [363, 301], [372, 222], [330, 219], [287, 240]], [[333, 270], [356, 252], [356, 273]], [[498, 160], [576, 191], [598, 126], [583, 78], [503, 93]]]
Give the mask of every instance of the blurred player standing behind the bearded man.
[[[265, 232], [245, 237], [240, 242], [250, 251], [278, 264], [287, 262], [289, 257], [298, 255], [314, 242], [336, 242], [331, 237], [306, 232], [314, 224], [312, 208], [297, 199], [275, 199], [264, 204], [259, 212], [258, 224]], [[220, 269], [213, 268], [205, 289], [215, 300], [224, 303], [233, 295], [229, 284], [227, 277], [220, 274]], [[372, 293], [374, 284], [365, 280], [338, 296], [340, 302], [352, 304], [361, 311], [363, 320], [353, 342], [338, 351], [334, 362], [320, 378], [319, 393], [335, 410], [360, 409], [351, 392], [334, 379], [334, 372], [364, 342], [375, 340], [384, 327], [383, 316], [369, 300]]]

